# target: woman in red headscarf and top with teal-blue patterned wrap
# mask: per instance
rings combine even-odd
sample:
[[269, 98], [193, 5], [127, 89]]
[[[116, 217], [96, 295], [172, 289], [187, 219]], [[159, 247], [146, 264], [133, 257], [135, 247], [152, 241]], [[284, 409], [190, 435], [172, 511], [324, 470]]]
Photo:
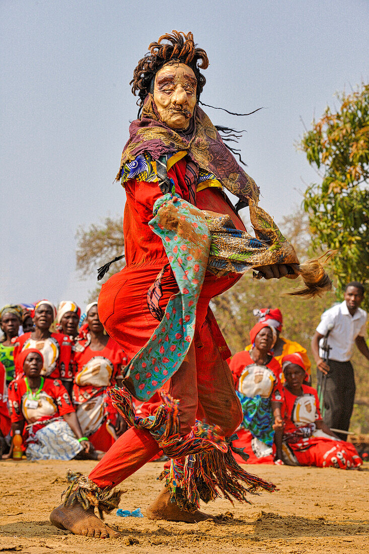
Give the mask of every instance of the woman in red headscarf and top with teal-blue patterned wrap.
[[270, 353], [276, 332], [268, 321], [263, 321], [252, 328], [250, 338], [252, 349], [238, 352], [229, 363], [243, 410], [238, 440], [233, 441], [233, 446], [243, 449], [249, 458], [245, 461], [238, 454], [234, 457], [238, 463], [273, 464], [274, 458], [281, 457], [281, 433], [274, 431], [283, 426], [280, 365]]

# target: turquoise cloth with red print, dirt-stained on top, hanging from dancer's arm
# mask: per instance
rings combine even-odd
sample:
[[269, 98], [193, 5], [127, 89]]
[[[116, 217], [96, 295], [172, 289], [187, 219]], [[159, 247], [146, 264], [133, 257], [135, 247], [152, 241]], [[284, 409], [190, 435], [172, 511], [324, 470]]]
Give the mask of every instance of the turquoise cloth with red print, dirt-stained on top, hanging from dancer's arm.
[[186, 357], [211, 244], [203, 212], [182, 198], [163, 195], [153, 214], [150, 228], [163, 240], [180, 292], [171, 296], [160, 325], [126, 366], [124, 384], [140, 400], [151, 398]]

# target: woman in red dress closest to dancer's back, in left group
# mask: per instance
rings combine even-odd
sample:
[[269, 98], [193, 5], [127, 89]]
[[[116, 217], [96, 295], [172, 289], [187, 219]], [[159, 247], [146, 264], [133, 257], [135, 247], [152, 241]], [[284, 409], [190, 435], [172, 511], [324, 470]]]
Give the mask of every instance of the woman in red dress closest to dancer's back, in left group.
[[127, 356], [121, 347], [106, 335], [98, 315], [98, 302], [86, 307], [88, 329], [76, 341], [73, 404], [83, 433], [97, 450], [107, 452], [121, 434], [122, 419], [106, 394], [107, 387], [121, 386], [122, 368]]

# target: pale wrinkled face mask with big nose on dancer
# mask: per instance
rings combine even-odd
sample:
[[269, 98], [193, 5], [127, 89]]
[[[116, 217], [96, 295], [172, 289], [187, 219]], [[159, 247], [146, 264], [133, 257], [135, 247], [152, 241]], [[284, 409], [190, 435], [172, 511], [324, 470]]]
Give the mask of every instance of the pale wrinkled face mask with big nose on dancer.
[[164, 65], [155, 76], [153, 99], [163, 123], [187, 129], [196, 106], [197, 80], [186, 64]]

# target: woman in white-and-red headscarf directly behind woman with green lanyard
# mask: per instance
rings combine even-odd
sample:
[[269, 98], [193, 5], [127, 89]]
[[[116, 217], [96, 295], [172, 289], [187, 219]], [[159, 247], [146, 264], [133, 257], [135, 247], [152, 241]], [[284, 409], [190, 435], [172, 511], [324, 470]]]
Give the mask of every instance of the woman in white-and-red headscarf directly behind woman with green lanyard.
[[34, 331], [12, 339], [16, 377], [23, 373], [22, 363], [19, 361], [20, 352], [36, 348], [42, 352], [44, 360], [41, 375], [68, 382], [72, 343], [68, 336], [49, 330], [56, 316], [54, 304], [49, 300], [40, 300], [34, 307]]

